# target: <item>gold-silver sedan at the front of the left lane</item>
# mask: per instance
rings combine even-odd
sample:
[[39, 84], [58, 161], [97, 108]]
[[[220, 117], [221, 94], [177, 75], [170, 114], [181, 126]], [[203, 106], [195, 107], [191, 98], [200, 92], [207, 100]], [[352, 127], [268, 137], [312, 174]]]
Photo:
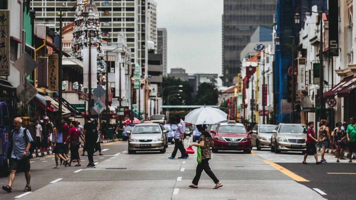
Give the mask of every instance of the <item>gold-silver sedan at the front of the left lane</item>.
[[132, 132], [128, 131], [129, 154], [136, 151], [159, 151], [166, 152], [168, 147], [167, 131], [158, 123], [142, 123], [136, 124]]

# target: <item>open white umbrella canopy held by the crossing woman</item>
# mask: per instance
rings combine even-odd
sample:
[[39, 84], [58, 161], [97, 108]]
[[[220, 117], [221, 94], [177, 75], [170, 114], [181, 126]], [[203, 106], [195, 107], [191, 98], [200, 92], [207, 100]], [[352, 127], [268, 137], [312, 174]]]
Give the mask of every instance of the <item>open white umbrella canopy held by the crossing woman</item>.
[[221, 121], [225, 121], [227, 114], [213, 107], [201, 107], [192, 110], [185, 116], [184, 122], [192, 124], [214, 124]]

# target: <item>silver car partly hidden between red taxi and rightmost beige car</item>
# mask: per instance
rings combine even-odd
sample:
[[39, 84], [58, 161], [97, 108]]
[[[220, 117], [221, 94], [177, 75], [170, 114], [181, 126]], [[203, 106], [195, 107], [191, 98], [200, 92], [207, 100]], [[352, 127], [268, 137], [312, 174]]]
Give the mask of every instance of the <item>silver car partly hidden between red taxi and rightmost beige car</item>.
[[260, 151], [261, 148], [271, 147], [272, 131], [275, 130], [276, 127], [277, 125], [271, 124], [257, 124], [253, 126], [249, 133], [252, 147], [256, 147], [258, 151]]

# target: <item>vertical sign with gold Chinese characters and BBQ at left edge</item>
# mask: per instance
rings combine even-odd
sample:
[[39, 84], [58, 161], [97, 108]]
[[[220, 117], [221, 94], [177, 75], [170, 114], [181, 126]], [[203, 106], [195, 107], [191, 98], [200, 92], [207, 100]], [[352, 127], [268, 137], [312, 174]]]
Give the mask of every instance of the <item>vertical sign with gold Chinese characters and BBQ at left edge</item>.
[[10, 75], [10, 15], [0, 10], [0, 76]]

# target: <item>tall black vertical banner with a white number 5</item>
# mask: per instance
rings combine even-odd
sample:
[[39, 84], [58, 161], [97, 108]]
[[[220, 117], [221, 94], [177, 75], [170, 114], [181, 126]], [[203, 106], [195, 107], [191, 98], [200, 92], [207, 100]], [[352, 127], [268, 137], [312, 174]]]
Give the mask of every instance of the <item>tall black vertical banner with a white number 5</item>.
[[329, 0], [330, 56], [339, 56], [339, 0]]

